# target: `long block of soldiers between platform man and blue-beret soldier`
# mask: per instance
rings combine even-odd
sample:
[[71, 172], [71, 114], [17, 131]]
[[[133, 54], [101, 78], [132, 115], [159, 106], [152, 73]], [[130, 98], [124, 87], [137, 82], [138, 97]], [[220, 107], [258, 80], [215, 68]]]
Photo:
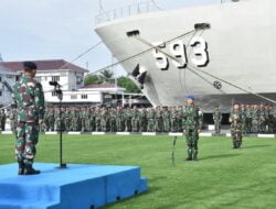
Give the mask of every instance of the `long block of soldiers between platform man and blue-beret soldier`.
[[[61, 111], [61, 117], [60, 117]], [[45, 110], [41, 132], [182, 132], [182, 107], [65, 107]]]

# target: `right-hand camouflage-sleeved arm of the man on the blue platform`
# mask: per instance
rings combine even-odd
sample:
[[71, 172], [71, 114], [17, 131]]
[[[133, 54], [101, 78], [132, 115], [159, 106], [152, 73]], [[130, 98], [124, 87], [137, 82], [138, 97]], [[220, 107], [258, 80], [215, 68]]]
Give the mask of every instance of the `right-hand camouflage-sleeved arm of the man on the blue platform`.
[[44, 92], [42, 85], [38, 82], [34, 88], [34, 102], [39, 111], [39, 119], [44, 119], [45, 103], [44, 103]]

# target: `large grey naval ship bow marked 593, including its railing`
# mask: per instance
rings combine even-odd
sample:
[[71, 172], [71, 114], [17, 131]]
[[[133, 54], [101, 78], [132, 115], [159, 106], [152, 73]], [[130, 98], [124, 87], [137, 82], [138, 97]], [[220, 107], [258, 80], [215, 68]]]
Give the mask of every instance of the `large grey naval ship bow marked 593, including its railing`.
[[275, 0], [132, 8], [102, 12], [95, 31], [153, 106], [182, 106], [190, 94], [204, 112], [275, 103]]

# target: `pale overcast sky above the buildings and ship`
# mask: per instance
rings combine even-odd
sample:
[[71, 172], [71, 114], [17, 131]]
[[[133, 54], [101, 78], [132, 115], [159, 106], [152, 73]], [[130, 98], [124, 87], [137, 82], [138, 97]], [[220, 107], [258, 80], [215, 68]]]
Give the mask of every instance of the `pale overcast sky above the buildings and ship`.
[[[219, 0], [156, 0], [163, 10]], [[103, 0], [112, 10], [138, 0]], [[0, 53], [3, 61], [74, 59], [99, 42], [94, 32], [98, 0], [1, 0]], [[99, 45], [75, 64], [96, 70], [112, 63], [109, 51]], [[121, 73], [118, 68], [118, 73]]]

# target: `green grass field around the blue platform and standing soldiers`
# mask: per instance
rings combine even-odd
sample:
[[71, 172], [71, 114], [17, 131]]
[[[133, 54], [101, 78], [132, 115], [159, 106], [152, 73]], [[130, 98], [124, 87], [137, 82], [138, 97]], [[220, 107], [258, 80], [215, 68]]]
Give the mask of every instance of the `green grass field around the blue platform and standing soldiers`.
[[[185, 143], [171, 136], [65, 135], [67, 163], [139, 165], [149, 191], [107, 208], [276, 208], [276, 139], [201, 138], [198, 162], [185, 162]], [[0, 135], [0, 164], [14, 163], [14, 139]], [[59, 136], [41, 135], [36, 162], [59, 162]], [[1, 174], [0, 174], [1, 175]]]

